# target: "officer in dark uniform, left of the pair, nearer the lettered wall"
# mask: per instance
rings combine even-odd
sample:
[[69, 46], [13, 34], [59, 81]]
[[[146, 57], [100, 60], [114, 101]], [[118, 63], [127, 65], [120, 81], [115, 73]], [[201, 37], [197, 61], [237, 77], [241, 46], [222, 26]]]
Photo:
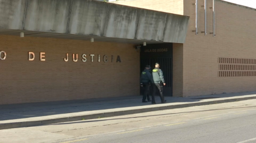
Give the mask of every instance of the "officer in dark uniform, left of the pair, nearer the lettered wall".
[[142, 102], [147, 102], [146, 98], [148, 97], [148, 101], [150, 102], [151, 99], [149, 98], [149, 86], [151, 83], [151, 74], [149, 72], [149, 69], [151, 67], [149, 65], [146, 65], [144, 71], [142, 72], [142, 75], [140, 76], [140, 85], [143, 87], [143, 98]]

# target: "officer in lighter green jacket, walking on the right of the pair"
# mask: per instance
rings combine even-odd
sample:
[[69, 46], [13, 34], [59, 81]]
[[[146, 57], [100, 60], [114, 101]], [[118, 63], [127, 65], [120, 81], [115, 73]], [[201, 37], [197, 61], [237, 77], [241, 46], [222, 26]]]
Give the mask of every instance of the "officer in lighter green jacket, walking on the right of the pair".
[[152, 70], [151, 82], [153, 86], [152, 104], [156, 104], [155, 92], [157, 92], [157, 89], [160, 92], [161, 103], [162, 104], [166, 103], [166, 100], [164, 100], [164, 96], [163, 96], [163, 86], [165, 86], [166, 83], [164, 81], [163, 71], [160, 69], [159, 63], [155, 63], [155, 68]]

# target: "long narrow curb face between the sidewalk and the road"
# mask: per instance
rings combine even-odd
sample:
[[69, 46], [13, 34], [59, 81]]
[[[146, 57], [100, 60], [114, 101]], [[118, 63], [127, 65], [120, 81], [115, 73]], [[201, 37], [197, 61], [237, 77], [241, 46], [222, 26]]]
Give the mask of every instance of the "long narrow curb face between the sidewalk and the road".
[[131, 109], [126, 111], [103, 112], [103, 113], [90, 114], [90, 115], [78, 115], [73, 117], [54, 118], [49, 120], [4, 123], [4, 124], [0, 124], [0, 130], [12, 129], [17, 127], [42, 126], [45, 124], [63, 123], [67, 121], [89, 120], [89, 119], [95, 119], [98, 117], [113, 117], [117, 115], [129, 115], [129, 114], [136, 114], [136, 113], [142, 113], [142, 112], [159, 111], [164, 109], [186, 108], [186, 107], [195, 107], [195, 106], [202, 106], [202, 105], [209, 105], [209, 104], [222, 104], [227, 102], [246, 101], [249, 99], [256, 99], [256, 96], [247, 97], [247, 98], [222, 99], [219, 101], [205, 101], [205, 102], [197, 102], [197, 103], [181, 104], [181, 105], [167, 105], [165, 107], [152, 107], [152, 108], [144, 108], [144, 109]]

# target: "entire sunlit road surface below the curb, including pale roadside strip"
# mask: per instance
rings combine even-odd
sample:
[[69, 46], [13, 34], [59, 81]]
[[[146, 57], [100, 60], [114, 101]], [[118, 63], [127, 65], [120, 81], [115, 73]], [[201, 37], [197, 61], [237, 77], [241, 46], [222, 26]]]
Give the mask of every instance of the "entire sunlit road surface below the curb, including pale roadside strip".
[[0, 130], [0, 143], [256, 142], [256, 99]]

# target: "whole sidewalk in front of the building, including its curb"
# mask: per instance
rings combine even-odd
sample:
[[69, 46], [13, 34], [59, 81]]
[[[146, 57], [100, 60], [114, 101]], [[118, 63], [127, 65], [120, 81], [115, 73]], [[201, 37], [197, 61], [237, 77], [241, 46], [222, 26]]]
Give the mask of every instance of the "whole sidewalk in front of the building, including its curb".
[[[80, 101], [0, 105], [0, 129], [40, 126], [66, 121], [112, 117], [163, 109], [193, 107], [256, 99], [256, 92], [207, 95], [189, 98], [166, 97], [167, 104], [142, 103], [141, 96], [87, 99]], [[156, 97], [160, 103], [160, 98]]]

